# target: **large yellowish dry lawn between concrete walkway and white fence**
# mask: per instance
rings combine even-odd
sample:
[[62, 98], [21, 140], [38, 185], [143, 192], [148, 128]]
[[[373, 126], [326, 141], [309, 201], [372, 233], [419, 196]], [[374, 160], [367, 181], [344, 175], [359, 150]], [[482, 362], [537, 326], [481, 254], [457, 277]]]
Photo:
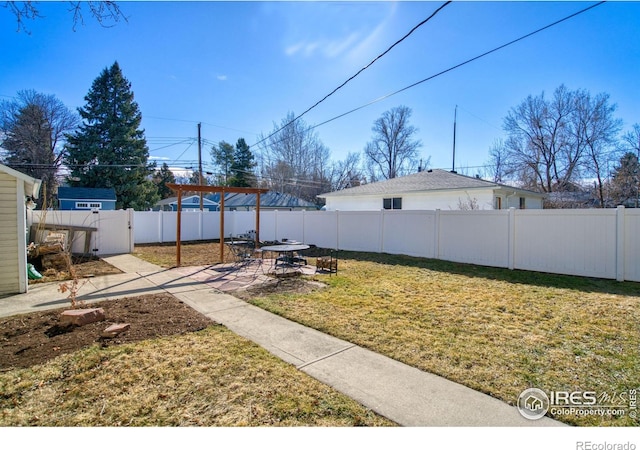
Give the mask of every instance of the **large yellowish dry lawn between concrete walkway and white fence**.
[[509, 404], [529, 387], [640, 388], [637, 283], [346, 252], [338, 276], [322, 279], [330, 288], [253, 303]]

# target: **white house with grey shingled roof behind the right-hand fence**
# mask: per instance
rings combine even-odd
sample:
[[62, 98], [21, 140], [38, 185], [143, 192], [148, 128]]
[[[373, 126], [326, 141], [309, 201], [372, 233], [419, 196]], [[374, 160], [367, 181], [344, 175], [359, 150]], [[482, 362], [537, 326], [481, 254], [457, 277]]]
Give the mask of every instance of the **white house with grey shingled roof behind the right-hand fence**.
[[434, 169], [318, 197], [325, 199], [323, 209], [329, 211], [377, 211], [541, 209], [545, 196], [478, 177]]

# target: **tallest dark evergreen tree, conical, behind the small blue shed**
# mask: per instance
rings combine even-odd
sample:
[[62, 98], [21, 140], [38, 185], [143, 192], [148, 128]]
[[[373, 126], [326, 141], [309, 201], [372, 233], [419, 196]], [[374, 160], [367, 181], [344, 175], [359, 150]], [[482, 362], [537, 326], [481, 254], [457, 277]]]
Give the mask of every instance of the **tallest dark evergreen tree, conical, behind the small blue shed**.
[[117, 62], [94, 80], [85, 101], [78, 109], [83, 123], [67, 139], [71, 185], [112, 187], [116, 208], [150, 208], [160, 198], [150, 179], [155, 164], [148, 162], [142, 114]]

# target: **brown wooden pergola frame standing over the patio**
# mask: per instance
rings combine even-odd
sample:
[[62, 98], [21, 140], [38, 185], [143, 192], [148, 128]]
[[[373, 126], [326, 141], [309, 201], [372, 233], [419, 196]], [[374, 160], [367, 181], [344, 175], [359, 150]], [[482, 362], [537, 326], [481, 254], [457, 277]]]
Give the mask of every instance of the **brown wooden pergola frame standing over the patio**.
[[224, 262], [224, 196], [225, 194], [256, 194], [256, 241], [258, 247], [260, 242], [260, 194], [268, 192], [268, 189], [260, 188], [242, 188], [231, 186], [201, 186], [195, 184], [171, 184], [167, 186], [178, 194], [178, 223], [176, 226], [176, 267], [180, 267], [180, 232], [182, 223], [182, 193], [183, 192], [201, 192], [214, 193], [220, 192], [220, 261]]

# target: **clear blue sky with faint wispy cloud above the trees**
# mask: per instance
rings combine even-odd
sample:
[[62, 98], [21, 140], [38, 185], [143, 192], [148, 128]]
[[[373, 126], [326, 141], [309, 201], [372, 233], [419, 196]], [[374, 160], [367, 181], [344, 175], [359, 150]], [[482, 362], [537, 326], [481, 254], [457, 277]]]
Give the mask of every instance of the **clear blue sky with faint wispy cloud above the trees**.
[[[121, 2], [110, 28], [73, 31], [64, 2], [39, 3], [30, 33], [0, 8], [0, 98], [22, 89], [84, 105], [118, 61], [142, 115], [150, 154], [195, 167], [212, 143], [249, 145], [288, 112], [300, 114], [444, 2]], [[454, 2], [303, 119], [316, 125], [478, 56], [593, 2]], [[503, 119], [528, 95], [560, 84], [606, 92], [628, 130], [640, 122], [640, 2], [608, 2], [501, 51], [315, 129], [332, 159], [361, 152], [371, 126], [398, 105], [413, 111], [423, 159], [475, 174], [504, 137]], [[205, 165], [206, 167], [206, 165]]]

